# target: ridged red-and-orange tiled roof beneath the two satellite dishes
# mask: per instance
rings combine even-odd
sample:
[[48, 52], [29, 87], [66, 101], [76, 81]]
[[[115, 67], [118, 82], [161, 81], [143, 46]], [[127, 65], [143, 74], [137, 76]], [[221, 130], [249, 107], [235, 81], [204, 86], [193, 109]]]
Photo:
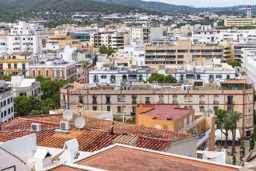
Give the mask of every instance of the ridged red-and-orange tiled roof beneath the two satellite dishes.
[[[2, 124], [0, 131], [0, 141], [9, 141], [14, 138], [22, 137], [26, 134], [32, 134], [30, 124], [42, 124], [42, 131], [37, 132], [37, 145], [63, 148], [65, 141], [77, 138], [79, 141], [79, 150], [85, 152], [94, 152], [101, 148], [112, 145], [117, 137], [127, 135], [138, 138], [136, 146], [162, 151], [172, 141], [181, 138], [188, 138], [189, 134], [177, 133], [174, 131], [158, 130], [151, 127], [142, 127], [134, 124], [124, 124], [115, 122], [114, 134], [109, 134], [109, 128], [112, 124], [110, 120], [101, 120], [93, 117], [85, 117], [86, 127], [82, 131], [74, 127], [73, 121], [78, 117], [74, 115], [71, 120], [72, 131], [69, 134], [54, 134], [54, 129], [59, 126], [59, 121], [63, 120], [61, 114], [43, 115], [36, 117], [17, 117], [14, 120]], [[125, 134], [124, 134], [125, 133]], [[123, 137], [125, 139], [125, 137]]]

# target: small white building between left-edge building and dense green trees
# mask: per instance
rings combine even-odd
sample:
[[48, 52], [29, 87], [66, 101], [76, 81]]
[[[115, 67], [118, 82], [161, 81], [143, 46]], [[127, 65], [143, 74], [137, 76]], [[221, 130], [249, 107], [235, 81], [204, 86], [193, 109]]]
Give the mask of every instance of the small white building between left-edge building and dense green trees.
[[35, 96], [41, 99], [43, 92], [40, 90], [40, 82], [36, 79], [24, 79], [24, 75], [12, 76], [11, 82], [6, 82], [12, 87], [13, 96]]

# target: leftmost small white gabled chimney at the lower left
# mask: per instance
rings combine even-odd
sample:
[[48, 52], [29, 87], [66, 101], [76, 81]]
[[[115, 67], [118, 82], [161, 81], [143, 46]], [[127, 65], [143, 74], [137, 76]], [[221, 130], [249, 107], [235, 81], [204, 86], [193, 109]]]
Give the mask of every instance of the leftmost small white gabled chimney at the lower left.
[[36, 154], [33, 156], [35, 158], [36, 170], [42, 170], [47, 166], [51, 166], [51, 154], [45, 149], [37, 149]]

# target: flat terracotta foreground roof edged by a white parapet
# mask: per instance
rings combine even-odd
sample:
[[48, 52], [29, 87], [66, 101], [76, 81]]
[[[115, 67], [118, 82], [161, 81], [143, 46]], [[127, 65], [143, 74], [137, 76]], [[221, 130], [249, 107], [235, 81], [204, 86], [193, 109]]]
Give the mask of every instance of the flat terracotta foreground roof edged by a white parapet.
[[[148, 152], [138, 148], [115, 146], [104, 152], [82, 159], [75, 164], [106, 170], [189, 170], [189, 171], [234, 171], [235, 166], [219, 165], [204, 160], [183, 156]], [[54, 170], [58, 170], [57, 168]]]

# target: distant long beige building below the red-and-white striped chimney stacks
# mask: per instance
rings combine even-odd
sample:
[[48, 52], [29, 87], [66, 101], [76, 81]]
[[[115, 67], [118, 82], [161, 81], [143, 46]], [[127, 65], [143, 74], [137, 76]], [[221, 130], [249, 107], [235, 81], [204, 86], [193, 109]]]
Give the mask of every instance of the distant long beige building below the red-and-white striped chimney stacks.
[[224, 19], [224, 26], [248, 26], [256, 23], [255, 18], [230, 18]]

